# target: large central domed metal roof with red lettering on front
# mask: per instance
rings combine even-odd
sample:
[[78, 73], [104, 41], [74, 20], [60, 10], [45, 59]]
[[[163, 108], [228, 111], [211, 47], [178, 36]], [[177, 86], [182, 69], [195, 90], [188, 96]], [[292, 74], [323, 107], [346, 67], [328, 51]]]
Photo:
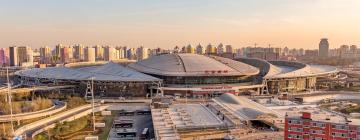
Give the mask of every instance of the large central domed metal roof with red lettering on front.
[[198, 54], [164, 54], [129, 65], [137, 71], [164, 76], [243, 76], [259, 70], [228, 58]]

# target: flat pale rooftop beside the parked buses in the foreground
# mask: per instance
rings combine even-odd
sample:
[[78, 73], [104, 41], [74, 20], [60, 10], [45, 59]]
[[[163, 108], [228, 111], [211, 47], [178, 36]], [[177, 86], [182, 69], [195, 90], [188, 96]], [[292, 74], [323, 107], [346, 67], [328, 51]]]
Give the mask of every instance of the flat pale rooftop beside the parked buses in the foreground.
[[155, 135], [161, 139], [180, 139], [178, 129], [205, 129], [224, 125], [202, 104], [175, 104], [151, 109]]

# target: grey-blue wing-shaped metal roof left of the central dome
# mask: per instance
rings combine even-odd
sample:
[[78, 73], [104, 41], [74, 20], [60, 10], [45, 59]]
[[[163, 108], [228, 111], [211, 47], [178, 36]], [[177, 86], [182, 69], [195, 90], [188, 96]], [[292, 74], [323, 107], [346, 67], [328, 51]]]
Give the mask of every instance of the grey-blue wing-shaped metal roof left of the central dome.
[[161, 79], [134, 71], [119, 64], [109, 62], [102, 66], [71, 69], [66, 67], [33, 68], [15, 73], [23, 77], [59, 79], [59, 80], [89, 80], [95, 81], [161, 81]]

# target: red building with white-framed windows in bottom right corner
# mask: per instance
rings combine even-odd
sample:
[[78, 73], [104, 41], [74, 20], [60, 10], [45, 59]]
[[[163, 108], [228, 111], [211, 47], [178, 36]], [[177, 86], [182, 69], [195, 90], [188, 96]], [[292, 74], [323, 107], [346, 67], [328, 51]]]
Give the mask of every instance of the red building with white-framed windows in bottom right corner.
[[360, 125], [342, 115], [318, 112], [286, 114], [284, 140], [358, 140]]

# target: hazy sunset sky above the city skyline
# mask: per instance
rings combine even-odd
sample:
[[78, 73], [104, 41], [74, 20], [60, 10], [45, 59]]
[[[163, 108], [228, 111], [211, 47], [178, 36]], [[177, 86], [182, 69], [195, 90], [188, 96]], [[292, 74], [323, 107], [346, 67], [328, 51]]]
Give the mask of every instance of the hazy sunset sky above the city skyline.
[[360, 0], [0, 0], [0, 47], [360, 46]]

